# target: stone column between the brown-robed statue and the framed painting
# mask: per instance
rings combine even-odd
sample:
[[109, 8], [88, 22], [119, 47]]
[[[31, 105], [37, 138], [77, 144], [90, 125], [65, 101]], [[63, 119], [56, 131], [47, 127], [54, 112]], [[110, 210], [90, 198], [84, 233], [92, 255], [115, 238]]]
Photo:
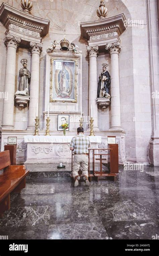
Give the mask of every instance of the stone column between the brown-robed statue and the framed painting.
[[40, 75], [40, 54], [42, 44], [30, 42], [32, 54], [31, 84], [30, 84], [30, 103], [29, 103], [29, 121], [28, 130], [34, 130], [37, 104], [39, 106], [39, 75]]

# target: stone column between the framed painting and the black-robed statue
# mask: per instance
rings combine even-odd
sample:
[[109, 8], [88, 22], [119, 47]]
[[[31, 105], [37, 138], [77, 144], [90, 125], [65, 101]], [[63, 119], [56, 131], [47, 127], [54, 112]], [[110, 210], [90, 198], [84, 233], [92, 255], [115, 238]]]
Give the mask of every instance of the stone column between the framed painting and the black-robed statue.
[[87, 46], [89, 52], [89, 116], [91, 117], [91, 104], [93, 113], [93, 130], [98, 128], [98, 108], [97, 108], [97, 55], [98, 46]]

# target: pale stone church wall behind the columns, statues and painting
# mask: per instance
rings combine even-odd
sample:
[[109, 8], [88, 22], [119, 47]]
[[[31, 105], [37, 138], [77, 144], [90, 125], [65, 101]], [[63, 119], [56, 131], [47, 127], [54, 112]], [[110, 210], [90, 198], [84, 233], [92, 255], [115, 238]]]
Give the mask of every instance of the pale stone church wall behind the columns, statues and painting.
[[[0, 4], [3, 1], [0, 0]], [[20, 0], [4, 1], [15, 8], [21, 9]], [[46, 49], [52, 40], [58, 42], [63, 38], [64, 28], [66, 38], [74, 42], [83, 52], [83, 112], [88, 115], [88, 90], [89, 90], [89, 59], [87, 55], [87, 42], [81, 37], [80, 22], [97, 20], [99, 0], [36, 0], [33, 1], [31, 13], [35, 16], [50, 20], [49, 34], [43, 38], [43, 52], [40, 57], [40, 93], [39, 112], [41, 129], [44, 128], [43, 111], [45, 102], [45, 76], [46, 76]], [[131, 23], [140, 21], [143, 28], [134, 24], [120, 36], [122, 51], [119, 54], [120, 77], [120, 104], [121, 126], [126, 131], [125, 151], [128, 161], [141, 161], [148, 163], [148, 147], [151, 137], [151, 98], [149, 81], [149, 55], [148, 34], [145, 0], [113, 0], [105, 3], [108, 8], [107, 18], [124, 13]], [[0, 24], [0, 91], [4, 90], [6, 49], [3, 44], [5, 28]], [[16, 66], [16, 85], [18, 86], [18, 71], [20, 59], [28, 59], [28, 69], [31, 70], [31, 55], [27, 49], [18, 49]], [[100, 54], [97, 61], [97, 75], [101, 72], [101, 63], [110, 64], [110, 57]], [[108, 70], [111, 73], [111, 70]], [[3, 99], [0, 99], [0, 124], [2, 120]], [[27, 129], [27, 108], [20, 110], [14, 107], [14, 125], [18, 130]], [[111, 107], [104, 111], [98, 109], [98, 125], [101, 131], [107, 131], [111, 122]], [[88, 125], [85, 123], [84, 128]]]

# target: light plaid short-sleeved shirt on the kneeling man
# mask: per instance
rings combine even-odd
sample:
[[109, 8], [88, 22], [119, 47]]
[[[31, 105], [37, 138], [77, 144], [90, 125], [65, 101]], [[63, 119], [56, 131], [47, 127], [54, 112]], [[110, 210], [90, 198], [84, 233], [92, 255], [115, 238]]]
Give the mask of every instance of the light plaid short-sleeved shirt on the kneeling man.
[[73, 137], [70, 142], [70, 147], [74, 147], [73, 153], [83, 154], [88, 153], [88, 147], [90, 147], [89, 137], [79, 133], [77, 136]]

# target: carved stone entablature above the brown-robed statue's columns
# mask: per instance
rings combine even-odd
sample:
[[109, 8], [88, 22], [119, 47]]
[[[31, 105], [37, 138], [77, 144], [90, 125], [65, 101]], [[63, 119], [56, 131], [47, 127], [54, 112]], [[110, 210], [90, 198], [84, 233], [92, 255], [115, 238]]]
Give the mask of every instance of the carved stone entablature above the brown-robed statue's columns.
[[6, 3], [0, 6], [0, 21], [7, 29], [6, 33], [21, 38], [20, 45], [23, 46], [29, 46], [30, 41], [41, 42], [42, 37], [49, 32], [49, 20], [33, 16]]

